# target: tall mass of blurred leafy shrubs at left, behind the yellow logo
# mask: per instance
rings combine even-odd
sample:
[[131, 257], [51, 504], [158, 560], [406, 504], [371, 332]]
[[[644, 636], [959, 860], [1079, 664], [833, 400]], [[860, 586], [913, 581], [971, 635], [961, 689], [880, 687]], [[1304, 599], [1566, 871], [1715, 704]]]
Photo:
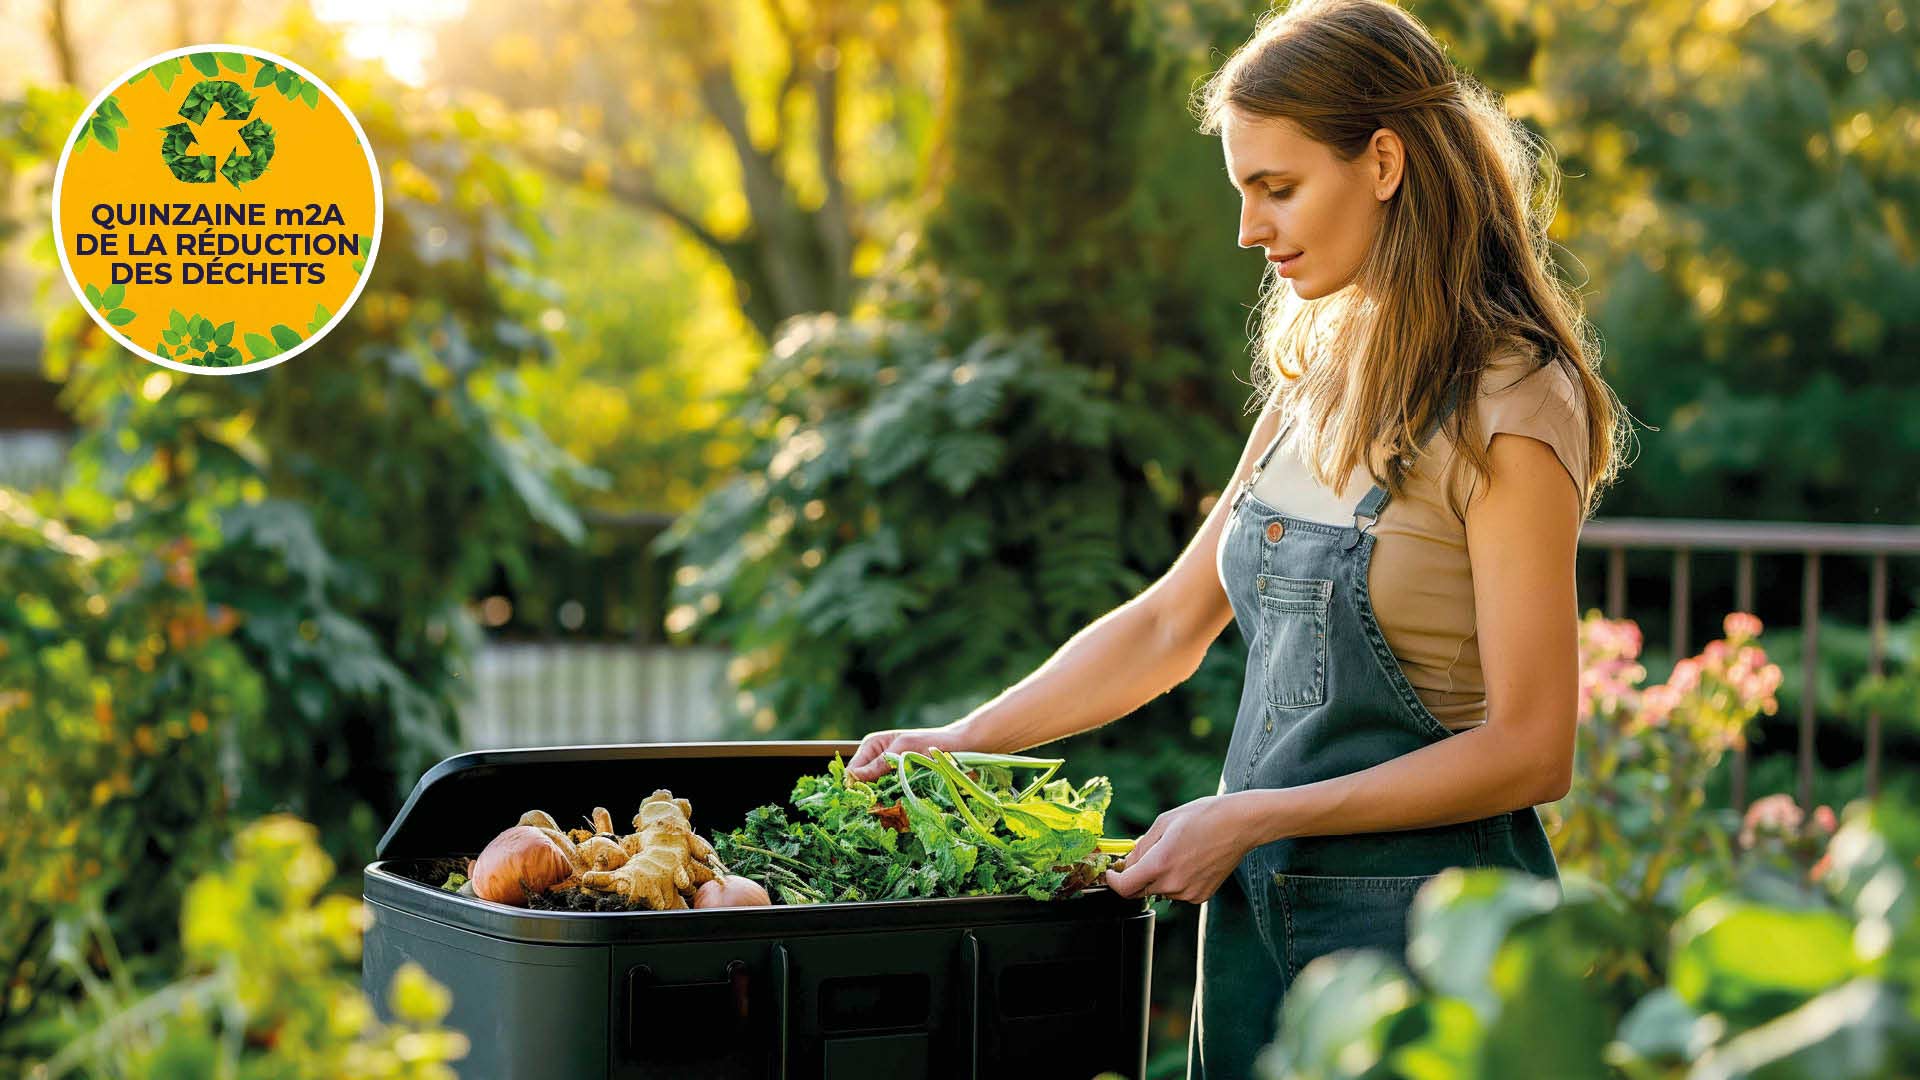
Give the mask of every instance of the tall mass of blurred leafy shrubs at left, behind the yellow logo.
[[[10, 865], [31, 867], [6, 897], [4, 1007], [31, 1019], [6, 1053], [65, 1042], [79, 1001], [100, 1026], [77, 1045], [113, 1074], [449, 1074], [440, 1036], [363, 1022], [344, 901], [305, 907], [455, 749], [467, 601], [499, 569], [528, 580], [536, 538], [578, 540], [568, 486], [597, 477], [547, 440], [520, 382], [551, 359], [538, 179], [501, 163], [472, 111], [348, 73], [311, 19], [280, 35], [342, 73], [374, 144], [380, 275], [326, 342], [257, 377], [131, 365], [77, 306], [48, 306], [48, 373], [81, 430], [58, 492], [6, 494], [0, 536], [23, 596], [0, 609], [15, 669], [0, 713], [23, 749], [0, 799]], [[8, 160], [52, 161], [81, 108], [27, 92]], [[44, 196], [50, 169], [29, 175]], [[50, 269], [44, 233], [35, 250]], [[180, 890], [219, 861], [228, 815], [282, 809], [319, 830], [255, 836], [265, 865], [202, 884], [180, 942]], [[275, 892], [290, 867], [303, 874]], [[190, 972], [148, 995], [180, 949]], [[127, 1042], [134, 1028], [150, 1038]]]

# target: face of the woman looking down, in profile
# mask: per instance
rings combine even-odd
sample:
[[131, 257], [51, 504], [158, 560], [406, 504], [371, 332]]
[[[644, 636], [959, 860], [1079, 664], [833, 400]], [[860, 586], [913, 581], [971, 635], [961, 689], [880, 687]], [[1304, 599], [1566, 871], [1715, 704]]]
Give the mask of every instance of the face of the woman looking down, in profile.
[[1400, 136], [1382, 127], [1342, 161], [1292, 121], [1227, 110], [1221, 146], [1240, 192], [1240, 246], [1265, 248], [1302, 300], [1346, 288], [1400, 184]]

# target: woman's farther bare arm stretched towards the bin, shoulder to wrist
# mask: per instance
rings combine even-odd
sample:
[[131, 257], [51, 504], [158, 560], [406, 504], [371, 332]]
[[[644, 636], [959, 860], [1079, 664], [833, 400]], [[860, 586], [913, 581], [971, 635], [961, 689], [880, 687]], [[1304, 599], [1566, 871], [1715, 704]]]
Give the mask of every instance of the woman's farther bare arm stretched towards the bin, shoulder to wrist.
[[1233, 619], [1215, 552], [1233, 492], [1275, 434], [1279, 415], [1269, 398], [1233, 479], [1173, 567], [1073, 634], [1033, 675], [960, 719], [960, 746], [1018, 753], [1117, 721], [1185, 682]]

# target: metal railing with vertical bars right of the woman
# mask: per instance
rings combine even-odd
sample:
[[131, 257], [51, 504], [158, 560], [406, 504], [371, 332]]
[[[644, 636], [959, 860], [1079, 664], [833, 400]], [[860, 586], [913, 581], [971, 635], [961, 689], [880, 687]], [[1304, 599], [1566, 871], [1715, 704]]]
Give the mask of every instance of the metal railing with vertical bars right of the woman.
[[[1903, 525], [1797, 525], [1774, 521], [1690, 521], [1619, 517], [1590, 521], [1580, 530], [1580, 546], [1607, 553], [1609, 619], [1626, 611], [1626, 552], [1668, 550], [1668, 636], [1674, 657], [1690, 650], [1692, 559], [1695, 552], [1734, 553], [1734, 609], [1753, 611], [1753, 557], [1757, 553], [1801, 555], [1801, 694], [1799, 694], [1799, 774], [1797, 798], [1812, 805], [1814, 705], [1820, 671], [1820, 559], [1826, 555], [1868, 561], [1868, 655], [1866, 675], [1882, 675], [1887, 634], [1887, 557], [1920, 555], [1920, 527]], [[1882, 732], [1880, 711], [1866, 715], [1866, 794], [1880, 794]], [[1734, 805], [1747, 805], [1747, 749], [1734, 757]]]

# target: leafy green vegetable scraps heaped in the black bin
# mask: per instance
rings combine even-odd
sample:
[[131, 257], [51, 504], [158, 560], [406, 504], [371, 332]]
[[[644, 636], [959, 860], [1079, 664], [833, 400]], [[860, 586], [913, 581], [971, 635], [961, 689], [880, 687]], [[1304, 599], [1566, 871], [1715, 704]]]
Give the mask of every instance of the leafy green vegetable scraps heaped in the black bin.
[[[887, 753], [891, 773], [847, 776], [839, 755], [801, 776], [791, 803], [747, 813], [714, 836], [735, 872], [780, 903], [1025, 894], [1073, 896], [1100, 880], [1133, 840], [1104, 840], [1114, 788], [1054, 780], [1058, 757], [1014, 753]], [[1037, 776], [1016, 784], [1016, 776]]]

